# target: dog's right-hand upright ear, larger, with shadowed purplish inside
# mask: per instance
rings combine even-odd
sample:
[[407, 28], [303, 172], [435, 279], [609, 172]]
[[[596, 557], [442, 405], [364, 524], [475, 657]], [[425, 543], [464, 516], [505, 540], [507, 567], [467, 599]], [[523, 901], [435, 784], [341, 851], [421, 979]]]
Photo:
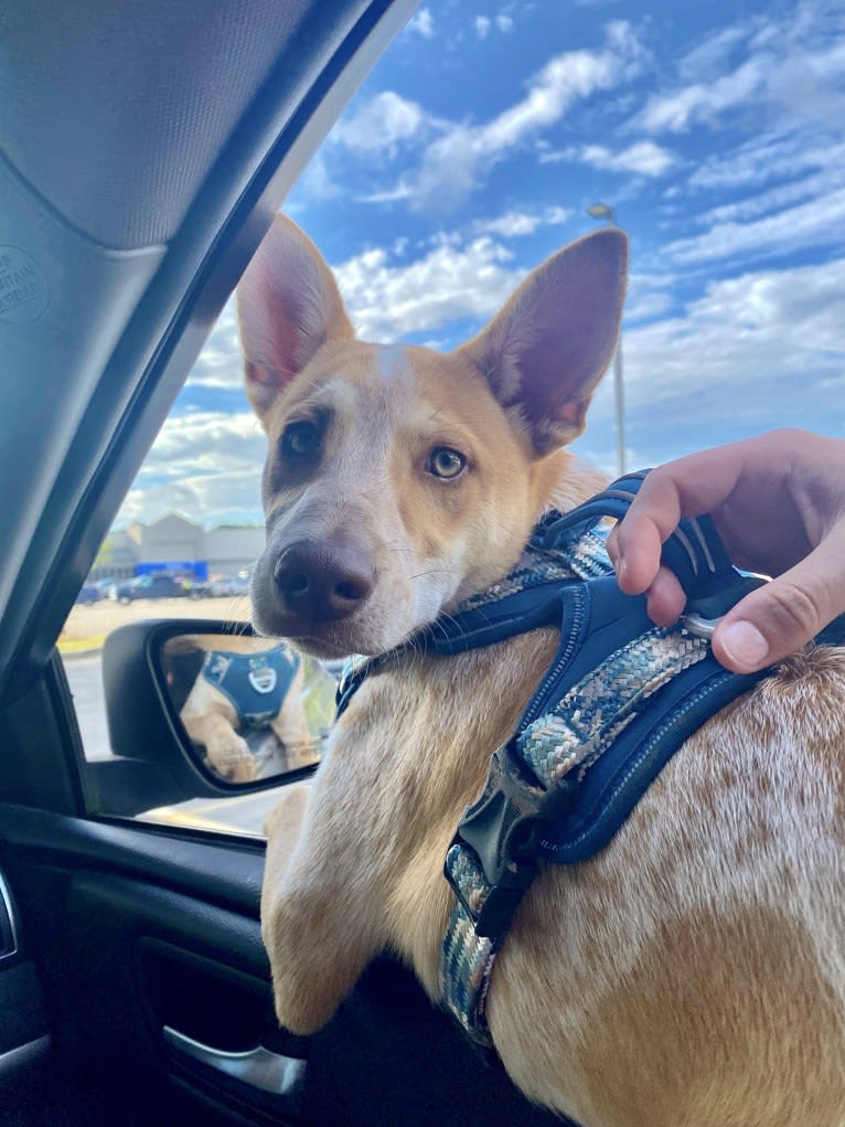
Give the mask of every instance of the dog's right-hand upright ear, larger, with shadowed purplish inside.
[[459, 352], [506, 410], [531, 428], [539, 454], [577, 438], [619, 338], [628, 238], [588, 234], [533, 270], [479, 336]]

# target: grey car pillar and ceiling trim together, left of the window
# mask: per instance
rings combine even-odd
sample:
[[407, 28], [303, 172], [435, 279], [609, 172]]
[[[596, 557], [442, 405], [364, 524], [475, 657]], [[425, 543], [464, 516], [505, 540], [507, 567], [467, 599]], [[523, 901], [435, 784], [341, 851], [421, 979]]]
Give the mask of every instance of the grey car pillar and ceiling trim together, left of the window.
[[43, 667], [286, 192], [415, 0], [30, 0], [0, 24], [0, 677]]

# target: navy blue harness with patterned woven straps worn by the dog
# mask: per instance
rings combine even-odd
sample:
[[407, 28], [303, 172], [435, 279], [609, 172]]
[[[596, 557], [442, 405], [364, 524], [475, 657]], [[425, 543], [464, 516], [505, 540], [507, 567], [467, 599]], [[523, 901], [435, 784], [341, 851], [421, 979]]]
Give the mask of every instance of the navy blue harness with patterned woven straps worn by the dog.
[[445, 860], [455, 893], [441, 958], [444, 1006], [480, 1046], [496, 956], [542, 863], [584, 861], [606, 845], [649, 784], [704, 721], [771, 673], [740, 676], [713, 657], [715, 621], [764, 580], [737, 571], [706, 516], [681, 522], [662, 562], [687, 595], [656, 627], [644, 597], [619, 589], [606, 517], [621, 520], [646, 473], [561, 515], [546, 515], [517, 567], [398, 650], [349, 664], [338, 716], [374, 669], [402, 650], [451, 655], [544, 625], [560, 645]]

